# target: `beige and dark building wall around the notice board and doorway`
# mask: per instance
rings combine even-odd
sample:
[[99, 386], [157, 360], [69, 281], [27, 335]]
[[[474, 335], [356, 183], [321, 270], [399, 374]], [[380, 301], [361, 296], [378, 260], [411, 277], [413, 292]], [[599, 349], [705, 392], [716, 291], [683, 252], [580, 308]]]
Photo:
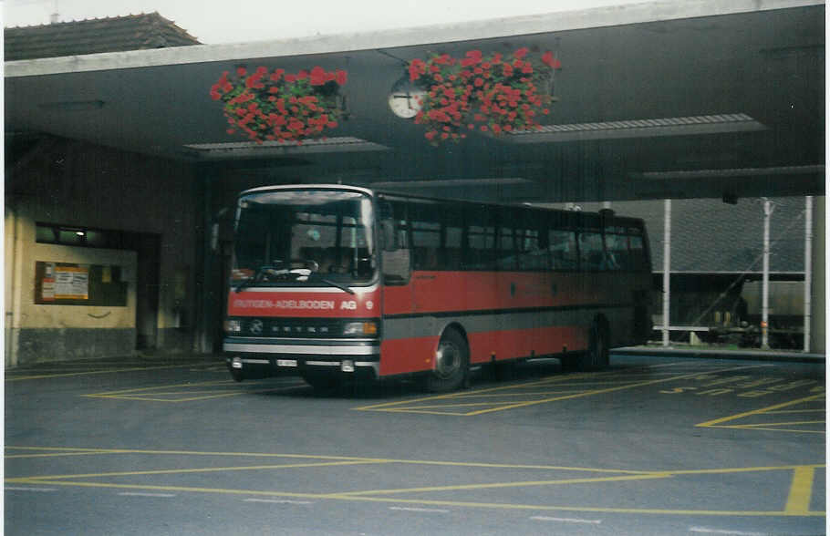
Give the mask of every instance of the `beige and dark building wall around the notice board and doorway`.
[[[150, 291], [158, 302], [156, 342], [164, 349], [192, 349], [198, 305], [194, 266], [201, 240], [201, 194], [192, 166], [67, 139], [43, 139], [26, 154], [14, 155], [15, 161], [6, 158], [6, 366], [33, 359], [109, 357], [126, 348], [124, 338], [130, 333], [129, 353], [134, 353], [140, 266], [159, 273]], [[146, 252], [37, 243], [37, 222], [152, 233], [158, 237], [158, 256], [147, 265]], [[129, 282], [128, 304], [37, 305], [36, 261], [121, 266], [121, 280]], [[186, 325], [177, 320], [182, 318]], [[117, 345], [112, 334], [118, 334]], [[52, 336], [57, 337], [54, 344], [38, 346], [39, 339]], [[84, 347], [84, 337], [95, 340]], [[36, 356], [26, 356], [26, 340]]]

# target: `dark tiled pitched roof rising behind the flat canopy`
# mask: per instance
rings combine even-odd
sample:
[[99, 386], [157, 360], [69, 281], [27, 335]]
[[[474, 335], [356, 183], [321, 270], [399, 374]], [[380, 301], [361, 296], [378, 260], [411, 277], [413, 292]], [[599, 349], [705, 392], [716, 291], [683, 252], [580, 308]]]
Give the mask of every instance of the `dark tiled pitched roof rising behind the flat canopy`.
[[5, 28], [5, 61], [200, 45], [157, 12]]

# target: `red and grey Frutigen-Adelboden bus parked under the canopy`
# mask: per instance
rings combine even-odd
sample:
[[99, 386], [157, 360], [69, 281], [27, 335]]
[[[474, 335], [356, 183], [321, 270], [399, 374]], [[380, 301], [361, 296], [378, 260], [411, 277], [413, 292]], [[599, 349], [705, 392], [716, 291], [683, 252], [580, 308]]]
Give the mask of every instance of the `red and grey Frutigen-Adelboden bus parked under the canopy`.
[[643, 222], [344, 185], [240, 194], [223, 350], [234, 379], [315, 387], [558, 356], [607, 365], [651, 331]]

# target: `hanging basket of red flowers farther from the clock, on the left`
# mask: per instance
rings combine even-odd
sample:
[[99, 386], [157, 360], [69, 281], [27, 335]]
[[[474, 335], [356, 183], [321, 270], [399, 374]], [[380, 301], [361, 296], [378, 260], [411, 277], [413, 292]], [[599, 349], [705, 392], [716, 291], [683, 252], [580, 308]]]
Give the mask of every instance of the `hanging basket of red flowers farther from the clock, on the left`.
[[248, 73], [225, 71], [211, 87], [211, 98], [222, 100], [228, 134], [240, 134], [257, 143], [325, 138], [327, 129], [336, 129], [342, 119], [343, 99], [339, 88], [346, 84], [346, 71], [329, 72], [323, 67], [296, 74], [284, 69], [269, 72], [257, 67]]

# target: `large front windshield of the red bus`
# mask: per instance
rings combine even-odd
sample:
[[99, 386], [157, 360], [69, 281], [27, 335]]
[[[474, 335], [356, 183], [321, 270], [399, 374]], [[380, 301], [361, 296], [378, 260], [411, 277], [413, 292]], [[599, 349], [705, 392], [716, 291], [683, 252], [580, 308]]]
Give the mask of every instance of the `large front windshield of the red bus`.
[[239, 200], [231, 285], [370, 283], [372, 203], [358, 191], [253, 191]]

